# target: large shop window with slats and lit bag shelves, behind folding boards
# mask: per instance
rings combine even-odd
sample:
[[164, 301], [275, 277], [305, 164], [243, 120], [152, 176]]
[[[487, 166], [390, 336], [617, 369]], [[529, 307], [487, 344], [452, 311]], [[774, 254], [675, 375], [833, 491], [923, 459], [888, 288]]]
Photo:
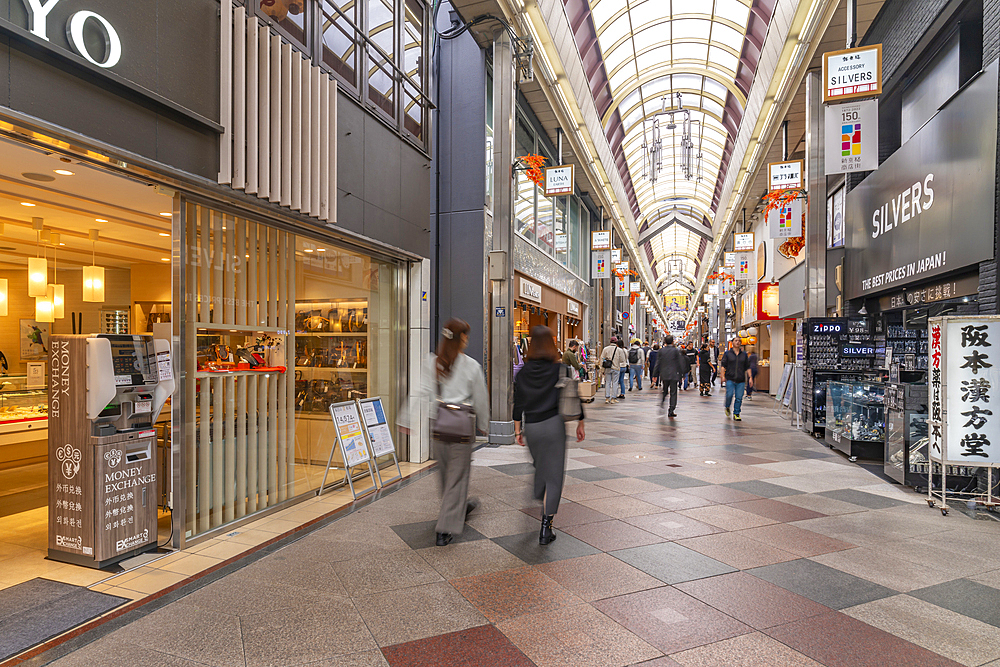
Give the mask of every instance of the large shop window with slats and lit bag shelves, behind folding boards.
[[[174, 432], [191, 538], [315, 492], [332, 403], [380, 396], [396, 423], [405, 272], [193, 202], [185, 238]], [[328, 483], [343, 478], [339, 453], [333, 464]]]

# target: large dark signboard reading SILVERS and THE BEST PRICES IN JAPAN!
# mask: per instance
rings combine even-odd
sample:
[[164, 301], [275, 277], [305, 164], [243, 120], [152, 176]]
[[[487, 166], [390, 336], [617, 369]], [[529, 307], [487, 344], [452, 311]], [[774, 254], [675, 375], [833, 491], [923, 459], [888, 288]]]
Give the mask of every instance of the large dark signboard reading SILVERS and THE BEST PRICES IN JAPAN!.
[[993, 258], [997, 63], [847, 194], [848, 299]]

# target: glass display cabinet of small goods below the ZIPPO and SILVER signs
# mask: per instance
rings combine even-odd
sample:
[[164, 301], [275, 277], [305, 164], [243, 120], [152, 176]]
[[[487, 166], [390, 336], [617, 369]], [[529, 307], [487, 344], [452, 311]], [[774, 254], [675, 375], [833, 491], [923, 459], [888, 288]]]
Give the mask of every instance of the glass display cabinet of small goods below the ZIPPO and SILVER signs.
[[885, 385], [830, 381], [825, 440], [852, 461], [881, 461], [885, 456]]

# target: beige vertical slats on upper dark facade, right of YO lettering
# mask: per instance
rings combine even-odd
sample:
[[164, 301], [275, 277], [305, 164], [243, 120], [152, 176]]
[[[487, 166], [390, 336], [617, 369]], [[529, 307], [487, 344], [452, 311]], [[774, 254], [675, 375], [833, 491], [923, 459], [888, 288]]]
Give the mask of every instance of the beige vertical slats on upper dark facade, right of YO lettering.
[[336, 82], [245, 7], [222, 5], [219, 182], [336, 222]]

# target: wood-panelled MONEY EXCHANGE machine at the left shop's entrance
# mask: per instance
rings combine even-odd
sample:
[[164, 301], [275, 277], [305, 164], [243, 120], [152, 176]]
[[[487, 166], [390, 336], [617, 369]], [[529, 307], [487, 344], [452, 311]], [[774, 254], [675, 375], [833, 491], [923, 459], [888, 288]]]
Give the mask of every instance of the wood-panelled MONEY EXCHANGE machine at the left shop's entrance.
[[49, 362], [49, 558], [102, 568], [156, 548], [169, 341], [54, 335]]

